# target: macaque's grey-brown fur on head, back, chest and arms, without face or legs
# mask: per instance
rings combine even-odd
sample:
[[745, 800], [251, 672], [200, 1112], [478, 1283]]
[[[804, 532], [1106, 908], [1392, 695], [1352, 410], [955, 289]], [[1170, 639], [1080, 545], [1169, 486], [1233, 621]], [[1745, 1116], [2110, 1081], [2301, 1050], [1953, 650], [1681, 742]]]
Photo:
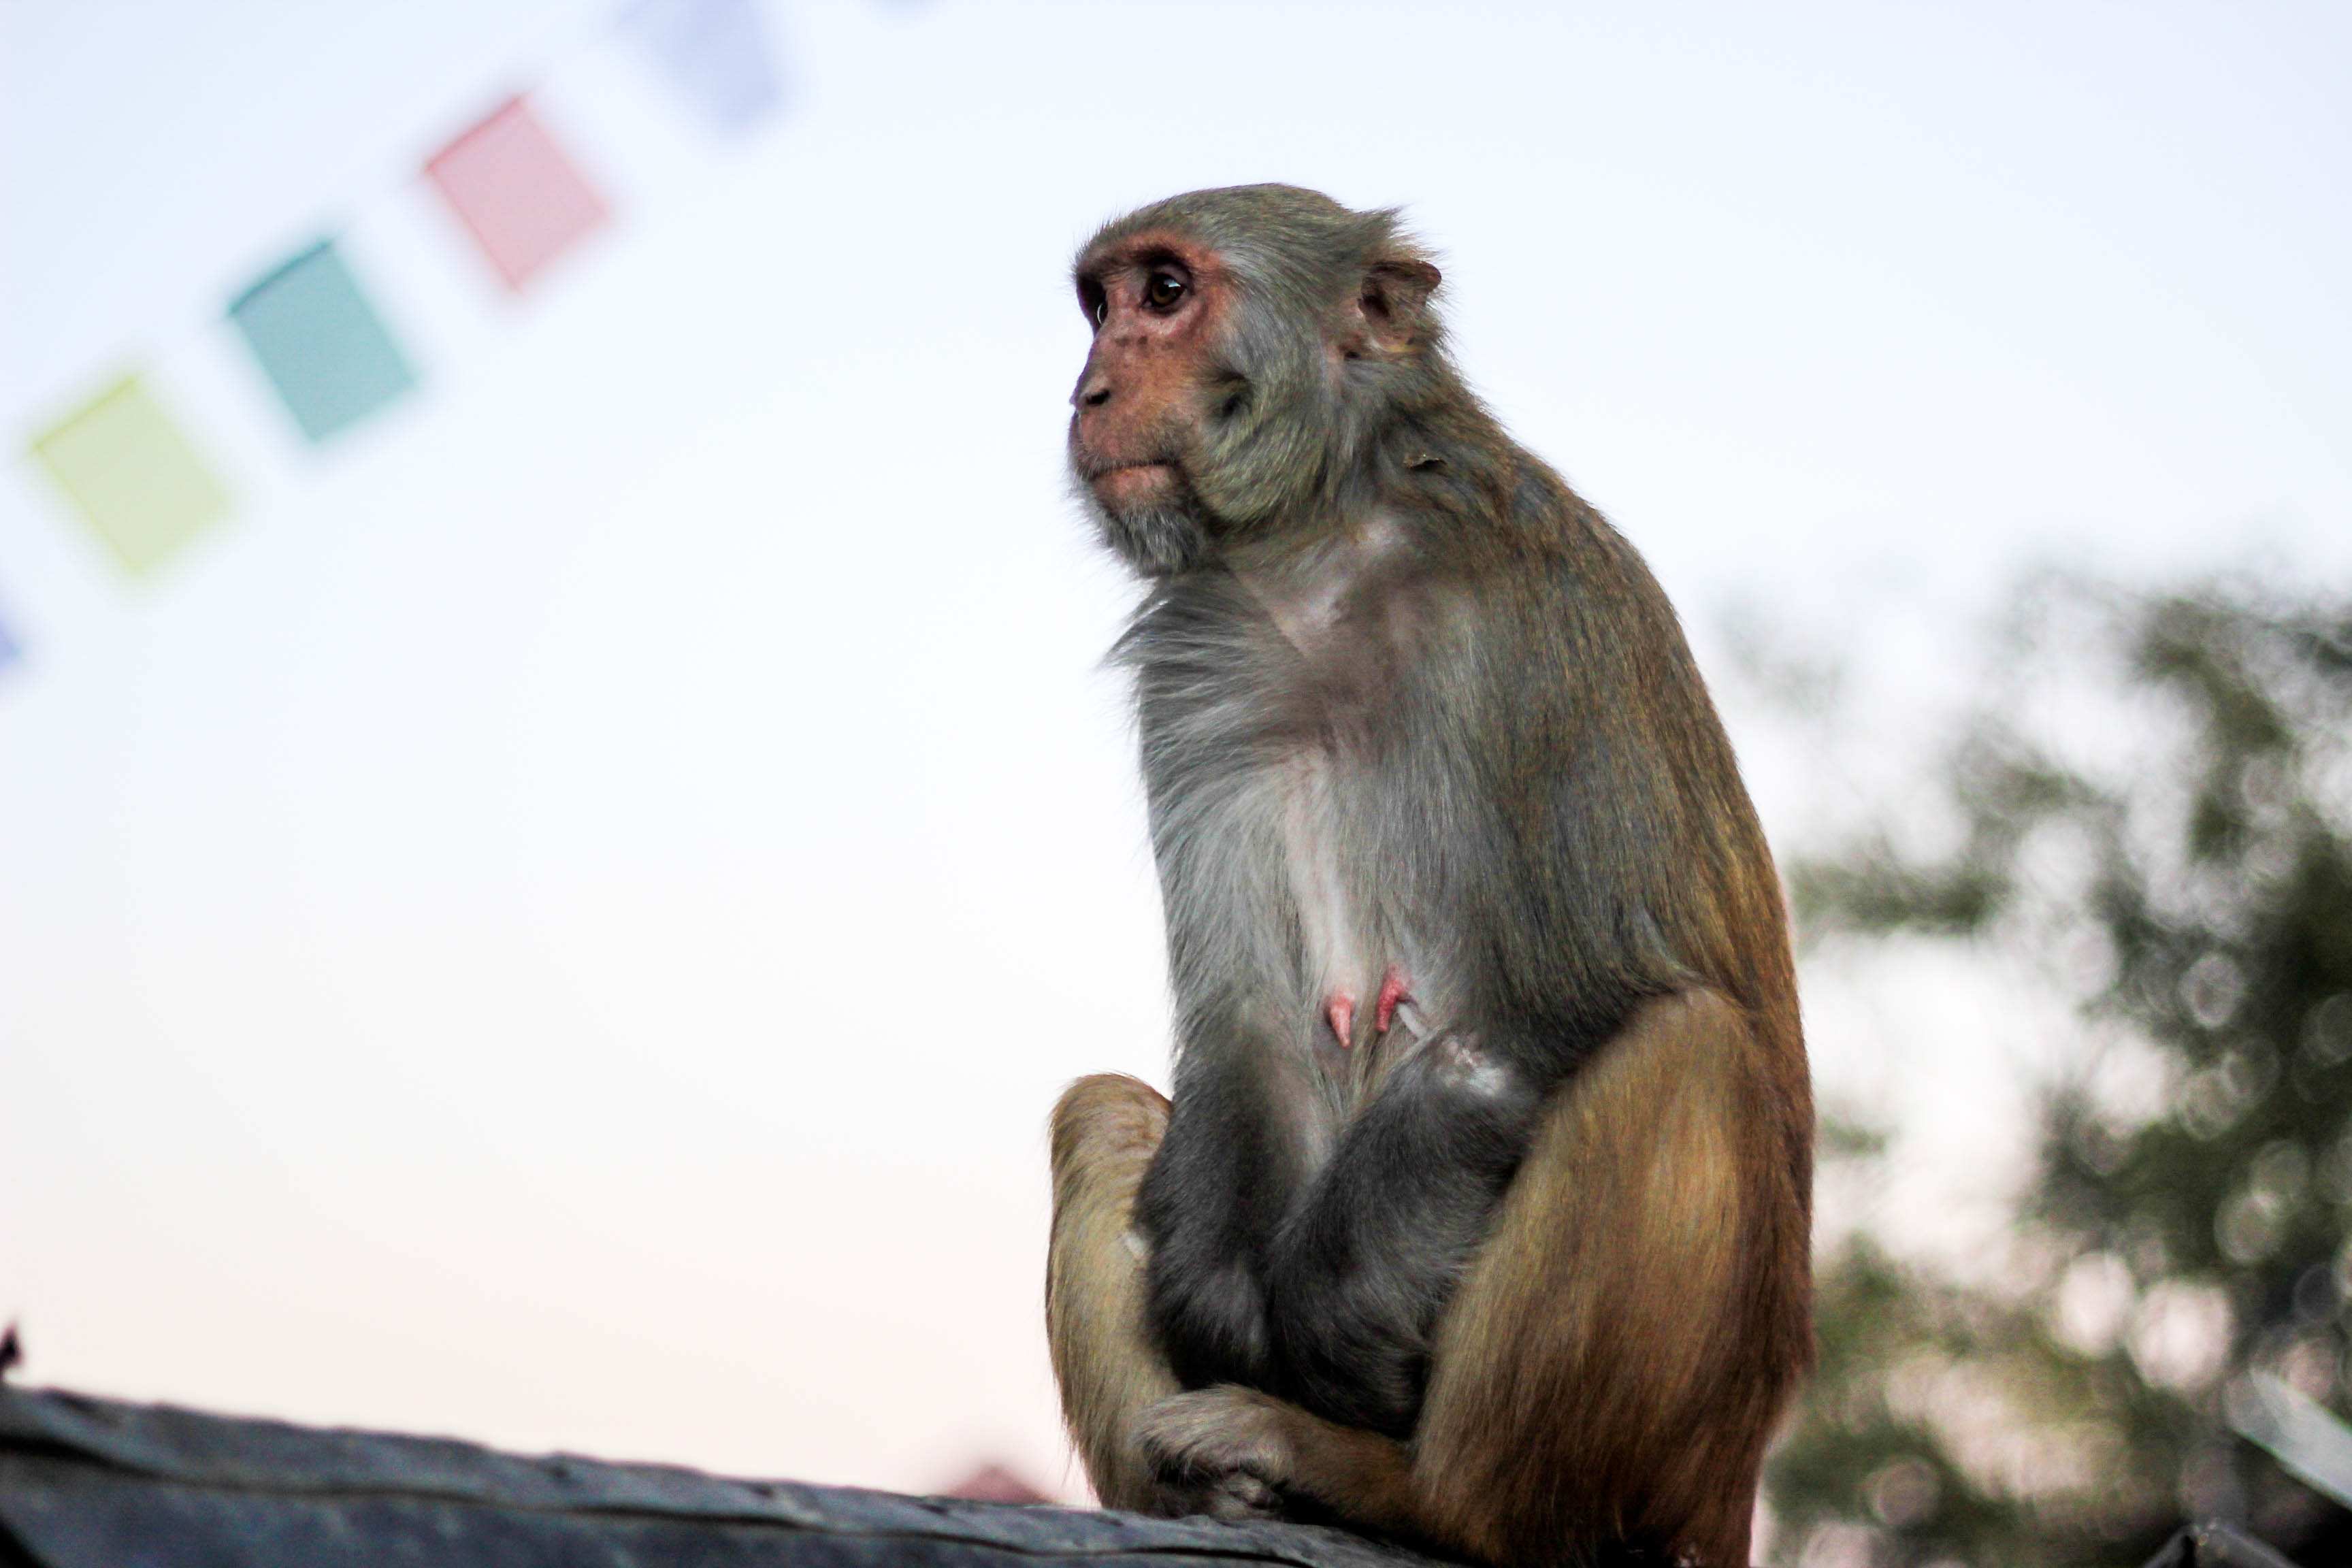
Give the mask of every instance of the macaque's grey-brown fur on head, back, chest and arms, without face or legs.
[[1240, 308], [1178, 501], [1096, 508], [1148, 581], [1115, 656], [1176, 1001], [1152, 1321], [1185, 1387], [1406, 1436], [1543, 1098], [1646, 997], [1780, 1006], [1778, 893], [1672, 609], [1461, 383], [1397, 216], [1192, 193], [1105, 226], [1082, 292], [1162, 230]]

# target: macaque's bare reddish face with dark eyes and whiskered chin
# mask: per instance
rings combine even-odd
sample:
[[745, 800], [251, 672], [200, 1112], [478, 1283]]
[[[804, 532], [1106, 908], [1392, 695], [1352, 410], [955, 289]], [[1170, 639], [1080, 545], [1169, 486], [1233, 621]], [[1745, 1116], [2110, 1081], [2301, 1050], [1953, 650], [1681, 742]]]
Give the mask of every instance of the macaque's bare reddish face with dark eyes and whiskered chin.
[[1216, 531], [1192, 480], [1230, 289], [1216, 256], [1176, 235], [1080, 263], [1094, 348], [1070, 393], [1070, 473], [1103, 538], [1145, 576], [1197, 564]]

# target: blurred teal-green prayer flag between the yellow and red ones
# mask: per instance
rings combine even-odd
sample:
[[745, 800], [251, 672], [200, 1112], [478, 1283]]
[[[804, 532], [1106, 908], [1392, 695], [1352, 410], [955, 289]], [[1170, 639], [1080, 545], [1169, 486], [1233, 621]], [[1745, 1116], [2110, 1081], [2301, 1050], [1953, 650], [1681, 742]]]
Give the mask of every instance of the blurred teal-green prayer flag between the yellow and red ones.
[[310, 442], [416, 386], [334, 240], [320, 240], [240, 294], [228, 320]]

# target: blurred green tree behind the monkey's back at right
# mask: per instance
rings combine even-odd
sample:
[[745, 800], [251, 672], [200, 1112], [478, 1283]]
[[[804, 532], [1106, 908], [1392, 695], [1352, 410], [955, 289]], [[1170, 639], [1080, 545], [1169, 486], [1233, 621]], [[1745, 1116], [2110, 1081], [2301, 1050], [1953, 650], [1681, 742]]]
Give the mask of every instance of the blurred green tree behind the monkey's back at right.
[[[2352, 1512], [2232, 1432], [2253, 1373], [2352, 1410], [2352, 599], [2051, 578], [2023, 604], [1922, 809], [1790, 886], [1816, 952], [2023, 957], [2077, 1044], [1999, 1279], [1867, 1232], [1820, 1258], [1773, 1559], [2136, 1568], [2223, 1516], [2352, 1563]], [[1884, 1152], [1832, 1126], [1823, 1159]]]

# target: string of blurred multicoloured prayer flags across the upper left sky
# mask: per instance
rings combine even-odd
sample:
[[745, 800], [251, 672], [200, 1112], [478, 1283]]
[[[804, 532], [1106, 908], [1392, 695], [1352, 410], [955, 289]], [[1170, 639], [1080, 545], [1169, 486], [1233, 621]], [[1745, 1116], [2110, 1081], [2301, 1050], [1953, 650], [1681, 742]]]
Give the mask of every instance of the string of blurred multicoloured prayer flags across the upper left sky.
[[[753, 129], [783, 96], [760, 0], [630, 0], [614, 31], [720, 136]], [[588, 174], [532, 113], [529, 94], [466, 127], [426, 160], [421, 176], [513, 294], [612, 219]], [[400, 334], [353, 275], [336, 235], [240, 289], [226, 317], [308, 444], [334, 440], [419, 386]], [[28, 454], [132, 576], [146, 576], [233, 510], [228, 484], [141, 371], [52, 421]], [[19, 658], [21, 644], [0, 625], [0, 668]]]

